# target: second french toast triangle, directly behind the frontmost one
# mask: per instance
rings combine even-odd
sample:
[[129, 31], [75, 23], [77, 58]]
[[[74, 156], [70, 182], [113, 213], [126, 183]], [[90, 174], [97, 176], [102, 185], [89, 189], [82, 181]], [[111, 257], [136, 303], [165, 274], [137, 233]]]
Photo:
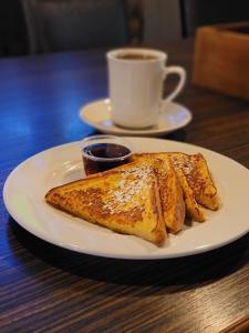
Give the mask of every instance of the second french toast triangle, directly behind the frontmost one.
[[145, 164], [156, 163], [156, 172], [158, 174], [159, 191], [162, 199], [162, 208], [165, 224], [168, 231], [176, 233], [183, 229], [185, 221], [185, 202], [183, 189], [166, 154], [134, 154], [133, 160], [144, 161]]

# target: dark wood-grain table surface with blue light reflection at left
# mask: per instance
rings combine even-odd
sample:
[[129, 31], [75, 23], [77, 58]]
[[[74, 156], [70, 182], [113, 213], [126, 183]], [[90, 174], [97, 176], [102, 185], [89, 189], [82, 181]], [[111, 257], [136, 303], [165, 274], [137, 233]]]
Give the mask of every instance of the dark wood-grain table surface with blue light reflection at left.
[[[249, 103], [193, 87], [193, 47], [191, 40], [160, 47], [170, 64], [187, 69], [187, 87], [177, 100], [194, 115], [165, 139], [215, 150], [249, 168]], [[1, 189], [29, 157], [95, 133], [77, 113], [107, 95], [104, 54], [0, 60]], [[174, 83], [173, 77], [168, 87]], [[0, 332], [249, 330], [249, 234], [189, 258], [126, 261], [35, 238], [8, 214], [2, 198], [0, 213]]]

